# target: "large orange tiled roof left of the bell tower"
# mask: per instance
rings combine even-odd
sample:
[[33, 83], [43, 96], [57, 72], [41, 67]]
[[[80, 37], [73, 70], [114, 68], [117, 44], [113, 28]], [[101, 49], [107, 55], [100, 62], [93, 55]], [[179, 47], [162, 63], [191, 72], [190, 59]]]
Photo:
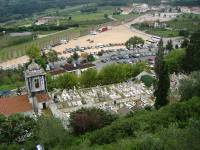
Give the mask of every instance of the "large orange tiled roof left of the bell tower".
[[0, 98], [0, 114], [9, 116], [31, 110], [32, 105], [29, 103], [27, 95]]

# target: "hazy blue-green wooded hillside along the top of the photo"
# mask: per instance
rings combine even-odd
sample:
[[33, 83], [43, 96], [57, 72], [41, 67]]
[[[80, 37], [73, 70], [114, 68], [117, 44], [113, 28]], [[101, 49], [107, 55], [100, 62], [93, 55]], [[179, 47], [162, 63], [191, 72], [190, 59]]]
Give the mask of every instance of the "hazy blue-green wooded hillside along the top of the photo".
[[[200, 5], [199, 0], [167, 0], [174, 5]], [[127, 3], [148, 3], [159, 5], [161, 0], [1, 0], [0, 22], [13, 19], [22, 19], [34, 13], [43, 12], [46, 9], [64, 9], [66, 6], [95, 3], [99, 6], [112, 5], [121, 6]]]

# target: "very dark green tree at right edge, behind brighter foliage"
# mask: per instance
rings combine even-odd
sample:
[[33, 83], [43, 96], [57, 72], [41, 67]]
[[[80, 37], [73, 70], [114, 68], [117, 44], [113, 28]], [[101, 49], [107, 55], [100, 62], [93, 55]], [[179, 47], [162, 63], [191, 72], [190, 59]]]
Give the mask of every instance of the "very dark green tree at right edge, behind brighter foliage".
[[191, 72], [200, 69], [200, 31], [192, 34], [183, 60], [184, 71]]

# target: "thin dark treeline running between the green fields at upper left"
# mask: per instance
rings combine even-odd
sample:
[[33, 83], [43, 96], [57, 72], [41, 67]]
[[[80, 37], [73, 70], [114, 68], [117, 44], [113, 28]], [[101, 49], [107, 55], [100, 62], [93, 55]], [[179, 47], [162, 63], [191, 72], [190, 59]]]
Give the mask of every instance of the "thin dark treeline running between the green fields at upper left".
[[66, 25], [32, 25], [29, 27], [14, 27], [14, 28], [5, 28], [0, 27], [0, 32], [25, 32], [25, 31], [52, 31], [52, 30], [66, 30], [71, 27], [79, 27], [79, 24], [66, 24]]

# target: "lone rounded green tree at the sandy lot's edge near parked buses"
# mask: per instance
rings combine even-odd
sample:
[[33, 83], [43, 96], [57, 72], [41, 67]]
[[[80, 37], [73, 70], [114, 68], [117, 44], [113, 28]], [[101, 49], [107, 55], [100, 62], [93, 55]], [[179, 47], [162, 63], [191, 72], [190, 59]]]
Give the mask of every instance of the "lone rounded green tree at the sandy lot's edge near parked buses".
[[140, 37], [137, 37], [137, 36], [134, 36], [134, 37], [131, 37], [126, 43], [125, 43], [125, 45], [126, 45], [126, 47], [128, 48], [128, 49], [130, 49], [130, 48], [134, 48], [134, 47], [136, 47], [138, 44], [144, 44], [144, 40], [142, 39], [142, 38], [140, 38]]

